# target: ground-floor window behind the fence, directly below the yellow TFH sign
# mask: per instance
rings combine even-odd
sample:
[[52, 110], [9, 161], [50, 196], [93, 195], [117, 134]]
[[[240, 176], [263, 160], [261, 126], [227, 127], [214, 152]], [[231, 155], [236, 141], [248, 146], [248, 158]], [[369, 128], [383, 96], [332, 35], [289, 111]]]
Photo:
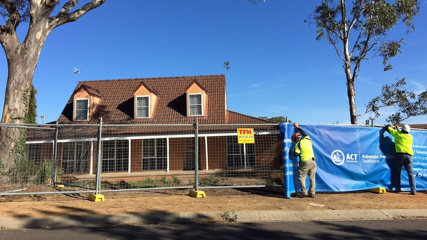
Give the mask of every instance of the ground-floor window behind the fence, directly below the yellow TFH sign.
[[238, 144], [237, 136], [227, 136], [227, 167], [255, 167], [255, 144]]

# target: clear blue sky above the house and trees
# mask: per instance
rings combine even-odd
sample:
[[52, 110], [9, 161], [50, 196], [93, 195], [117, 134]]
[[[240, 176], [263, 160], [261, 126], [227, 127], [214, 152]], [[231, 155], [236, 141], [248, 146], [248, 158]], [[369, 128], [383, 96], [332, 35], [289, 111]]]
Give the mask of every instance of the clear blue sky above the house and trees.
[[[79, 6], [88, 2], [80, 0]], [[402, 54], [382, 71], [381, 59], [362, 63], [356, 80], [357, 113], [384, 84], [406, 78], [427, 89], [427, 1], [417, 31], [398, 27]], [[342, 62], [333, 47], [316, 41], [304, 23], [320, 0], [107, 0], [75, 22], [54, 29], [41, 52], [33, 84], [37, 122], [55, 121], [77, 81], [224, 74], [228, 109], [251, 116], [284, 116], [304, 124], [350, 124]], [[59, 7], [58, 9], [59, 10]], [[18, 29], [21, 42], [26, 29]], [[223, 63], [229, 61], [228, 73]], [[82, 69], [75, 77], [74, 68]], [[0, 104], [7, 62], [0, 53]], [[375, 124], [386, 124], [384, 109]], [[364, 124], [369, 115], [358, 118]], [[427, 116], [406, 123], [427, 123]]]

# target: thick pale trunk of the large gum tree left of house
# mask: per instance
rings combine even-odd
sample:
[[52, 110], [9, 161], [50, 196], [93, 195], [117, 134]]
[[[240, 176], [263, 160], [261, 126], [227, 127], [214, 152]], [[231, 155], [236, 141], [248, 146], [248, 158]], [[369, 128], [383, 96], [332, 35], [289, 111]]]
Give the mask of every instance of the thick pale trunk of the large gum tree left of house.
[[[30, 21], [28, 34], [22, 44], [19, 44], [16, 34], [3, 34], [0, 37], [9, 70], [1, 123], [24, 123], [34, 70], [46, 38], [52, 31], [47, 20], [37, 23]], [[3, 175], [8, 175], [16, 160], [25, 157], [26, 135], [23, 133], [25, 131], [19, 128], [1, 128], [0, 170]]]

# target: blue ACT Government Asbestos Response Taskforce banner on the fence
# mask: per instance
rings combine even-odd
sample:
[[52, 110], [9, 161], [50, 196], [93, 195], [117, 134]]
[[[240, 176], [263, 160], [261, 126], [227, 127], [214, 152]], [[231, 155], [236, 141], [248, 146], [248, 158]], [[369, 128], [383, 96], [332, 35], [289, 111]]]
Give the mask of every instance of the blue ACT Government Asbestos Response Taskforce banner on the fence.
[[[394, 138], [382, 128], [339, 125], [303, 125], [310, 136], [317, 162], [317, 192], [349, 192], [385, 188], [394, 179]], [[298, 159], [293, 155], [292, 124], [279, 125], [282, 142], [284, 192], [298, 192]], [[427, 189], [427, 131], [411, 130], [417, 190]], [[410, 191], [408, 175], [401, 171], [401, 189]], [[307, 189], [309, 181], [307, 178]]]

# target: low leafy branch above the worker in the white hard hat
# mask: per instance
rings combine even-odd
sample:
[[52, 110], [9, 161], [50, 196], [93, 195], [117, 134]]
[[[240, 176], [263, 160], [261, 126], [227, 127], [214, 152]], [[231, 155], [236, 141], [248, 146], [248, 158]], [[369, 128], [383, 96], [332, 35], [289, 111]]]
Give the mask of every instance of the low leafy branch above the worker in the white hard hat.
[[400, 123], [410, 117], [427, 115], [427, 90], [415, 94], [405, 89], [405, 79], [397, 79], [396, 84], [382, 86], [381, 96], [376, 96], [366, 106], [366, 112], [379, 117], [379, 109], [394, 106], [396, 113], [388, 116], [387, 122]]

